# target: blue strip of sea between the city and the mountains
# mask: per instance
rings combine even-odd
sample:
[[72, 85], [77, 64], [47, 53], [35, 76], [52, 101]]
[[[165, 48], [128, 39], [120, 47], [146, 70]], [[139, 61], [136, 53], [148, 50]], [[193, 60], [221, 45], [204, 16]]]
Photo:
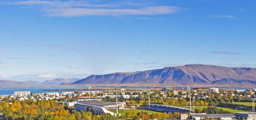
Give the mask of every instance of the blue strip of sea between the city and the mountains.
[[[82, 92], [85, 90], [52, 90], [52, 91], [44, 91], [44, 89], [79, 89], [79, 88], [88, 88], [88, 87], [35, 87], [35, 88], [0, 88], [0, 95], [13, 95], [14, 91], [30, 91], [30, 93], [47, 93], [47, 92]], [[91, 88], [115, 88], [113, 86], [96, 86]], [[123, 89], [147, 89], [147, 87], [118, 87]], [[150, 88], [165, 88], [165, 87], [150, 87]], [[168, 88], [175, 88], [175, 89], [183, 89], [186, 87], [168, 87]], [[190, 88], [209, 88], [209, 87], [190, 87]], [[232, 87], [218, 87], [219, 89], [236, 89]], [[243, 88], [243, 89], [251, 89], [251, 88]], [[93, 90], [92, 90], [93, 91]]]

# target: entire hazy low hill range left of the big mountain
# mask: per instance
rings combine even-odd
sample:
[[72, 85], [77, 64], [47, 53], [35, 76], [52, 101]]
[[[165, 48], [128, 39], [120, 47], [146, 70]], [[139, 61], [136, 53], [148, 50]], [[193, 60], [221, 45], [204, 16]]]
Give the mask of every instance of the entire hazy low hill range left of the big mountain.
[[[9, 81], [9, 80], [0, 80], [0, 87], [43, 87], [43, 86], [56, 86], [62, 83], [72, 84], [79, 79], [76, 78], [56, 78], [53, 80], [47, 80], [44, 82], [38, 81]], [[68, 85], [68, 84], [66, 84]]]

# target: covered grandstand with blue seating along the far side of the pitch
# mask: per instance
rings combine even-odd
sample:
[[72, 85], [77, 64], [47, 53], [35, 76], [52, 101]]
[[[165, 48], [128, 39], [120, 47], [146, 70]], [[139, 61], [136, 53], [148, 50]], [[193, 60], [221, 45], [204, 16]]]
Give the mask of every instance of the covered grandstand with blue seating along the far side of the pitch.
[[148, 110], [157, 111], [157, 112], [166, 112], [166, 113], [173, 113], [173, 112], [190, 112], [190, 109], [177, 107], [177, 106], [166, 106], [166, 105], [158, 105], [158, 104], [150, 104]]

